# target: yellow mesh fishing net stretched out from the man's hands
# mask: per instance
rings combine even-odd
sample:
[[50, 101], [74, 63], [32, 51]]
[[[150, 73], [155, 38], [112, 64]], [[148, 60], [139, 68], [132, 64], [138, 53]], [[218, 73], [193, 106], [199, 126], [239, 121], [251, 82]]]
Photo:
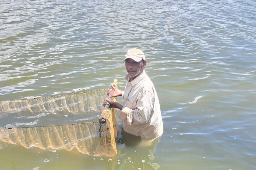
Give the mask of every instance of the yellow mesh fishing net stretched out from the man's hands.
[[[117, 87], [117, 80], [114, 86]], [[102, 102], [107, 90], [72, 93], [33, 99], [0, 101], [0, 117], [9, 114], [92, 114], [101, 113], [98, 120], [91, 122], [69, 123], [34, 127], [2, 127], [0, 141], [20, 144], [26, 148], [39, 147], [45, 150], [77, 149], [91, 156], [115, 156], [118, 125], [116, 108], [104, 109]], [[117, 98], [112, 98], [117, 101]], [[93, 111], [92, 113], [90, 113]]]

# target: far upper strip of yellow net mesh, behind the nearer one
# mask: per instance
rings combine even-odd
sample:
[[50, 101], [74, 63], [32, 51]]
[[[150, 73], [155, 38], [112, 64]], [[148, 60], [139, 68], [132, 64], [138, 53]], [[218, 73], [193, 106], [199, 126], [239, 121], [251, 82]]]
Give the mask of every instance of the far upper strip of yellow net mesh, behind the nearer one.
[[88, 112], [91, 110], [102, 111], [102, 101], [108, 89], [94, 90], [91, 92], [72, 93], [43, 98], [18, 99], [0, 101], [0, 113], [54, 113], [56, 111]]

